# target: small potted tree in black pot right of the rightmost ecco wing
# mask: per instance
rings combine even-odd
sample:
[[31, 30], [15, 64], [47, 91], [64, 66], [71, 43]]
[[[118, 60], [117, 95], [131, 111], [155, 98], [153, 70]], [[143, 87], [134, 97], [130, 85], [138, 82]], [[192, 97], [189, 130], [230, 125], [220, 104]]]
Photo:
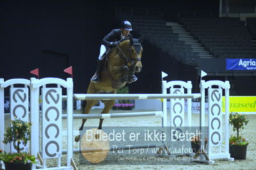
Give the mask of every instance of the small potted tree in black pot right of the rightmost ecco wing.
[[246, 139], [239, 136], [239, 129], [247, 125], [248, 118], [245, 114], [230, 112], [229, 123], [233, 126], [233, 131], [237, 132], [237, 135], [232, 135], [229, 139], [230, 157], [234, 159], [246, 159], [247, 145], [249, 143]]

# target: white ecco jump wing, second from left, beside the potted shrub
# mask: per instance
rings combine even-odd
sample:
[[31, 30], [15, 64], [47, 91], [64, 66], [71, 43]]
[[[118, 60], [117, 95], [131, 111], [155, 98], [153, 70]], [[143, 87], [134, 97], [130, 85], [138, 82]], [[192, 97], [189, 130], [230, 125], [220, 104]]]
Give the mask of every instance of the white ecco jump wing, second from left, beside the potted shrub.
[[[47, 84], [56, 84], [57, 88], [47, 88]], [[67, 166], [61, 166], [61, 123], [62, 88], [67, 89]], [[58, 78], [31, 78], [31, 154], [39, 153], [39, 91], [42, 87], [42, 169], [47, 169], [49, 158], [58, 158], [58, 167], [54, 169], [73, 169], [73, 81]], [[51, 133], [48, 133], [51, 128]], [[55, 130], [54, 130], [55, 129]], [[55, 133], [54, 133], [55, 132]], [[53, 135], [52, 135], [53, 134]], [[34, 167], [35, 168], [35, 167]]]

